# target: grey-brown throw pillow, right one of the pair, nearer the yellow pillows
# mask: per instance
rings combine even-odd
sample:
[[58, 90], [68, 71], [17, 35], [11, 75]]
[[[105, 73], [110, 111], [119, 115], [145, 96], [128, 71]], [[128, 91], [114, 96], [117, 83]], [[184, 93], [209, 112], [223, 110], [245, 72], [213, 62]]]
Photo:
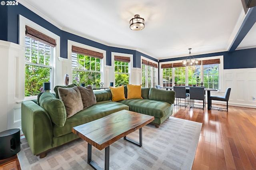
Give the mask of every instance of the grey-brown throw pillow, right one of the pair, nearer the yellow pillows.
[[84, 105], [83, 109], [86, 109], [96, 104], [96, 97], [93, 93], [92, 86], [89, 85], [87, 87], [80, 87], [80, 86], [77, 86], [77, 87], [81, 93], [82, 102]]

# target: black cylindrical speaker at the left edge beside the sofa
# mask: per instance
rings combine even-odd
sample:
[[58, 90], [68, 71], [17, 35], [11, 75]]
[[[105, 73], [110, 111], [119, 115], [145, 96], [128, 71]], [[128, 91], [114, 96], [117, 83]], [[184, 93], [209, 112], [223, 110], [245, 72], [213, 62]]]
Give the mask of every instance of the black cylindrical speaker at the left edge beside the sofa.
[[20, 152], [20, 129], [0, 132], [0, 159], [10, 158]]

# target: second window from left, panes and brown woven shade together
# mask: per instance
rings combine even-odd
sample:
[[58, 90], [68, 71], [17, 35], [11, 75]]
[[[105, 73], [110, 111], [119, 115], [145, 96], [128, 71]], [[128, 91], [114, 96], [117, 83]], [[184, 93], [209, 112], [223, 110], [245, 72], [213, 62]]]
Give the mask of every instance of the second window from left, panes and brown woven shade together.
[[103, 53], [72, 45], [72, 83], [100, 87]]

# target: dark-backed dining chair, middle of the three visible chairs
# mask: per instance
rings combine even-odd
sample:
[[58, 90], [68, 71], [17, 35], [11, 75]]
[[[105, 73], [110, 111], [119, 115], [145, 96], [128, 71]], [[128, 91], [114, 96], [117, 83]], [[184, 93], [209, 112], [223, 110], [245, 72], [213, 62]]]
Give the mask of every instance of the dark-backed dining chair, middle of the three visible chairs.
[[[190, 108], [198, 108], [198, 109], [204, 109], [205, 107], [205, 95], [204, 95], [204, 87], [189, 87], [189, 94], [190, 94]], [[194, 100], [202, 100], [203, 101], [203, 107], [195, 107]], [[192, 104], [191, 104], [192, 103]]]

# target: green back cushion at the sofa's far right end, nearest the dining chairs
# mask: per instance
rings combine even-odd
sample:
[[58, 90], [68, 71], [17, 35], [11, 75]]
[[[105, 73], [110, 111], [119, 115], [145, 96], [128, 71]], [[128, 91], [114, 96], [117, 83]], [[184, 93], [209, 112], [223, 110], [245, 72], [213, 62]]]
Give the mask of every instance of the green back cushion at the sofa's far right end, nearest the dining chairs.
[[150, 100], [164, 101], [173, 104], [175, 99], [175, 91], [167, 91], [151, 87], [149, 90], [148, 98]]

